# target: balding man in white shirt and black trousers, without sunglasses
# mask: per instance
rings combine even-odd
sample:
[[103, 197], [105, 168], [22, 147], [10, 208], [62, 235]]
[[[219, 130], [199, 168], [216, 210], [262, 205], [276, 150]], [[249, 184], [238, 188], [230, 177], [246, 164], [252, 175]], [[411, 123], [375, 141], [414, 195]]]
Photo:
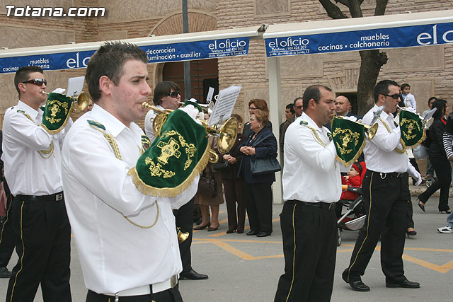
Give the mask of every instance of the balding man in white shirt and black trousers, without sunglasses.
[[[335, 105], [331, 88], [310, 86], [304, 112], [289, 125], [280, 214], [285, 274], [275, 302], [330, 301], [336, 262], [335, 206], [341, 194], [340, 163], [330, 132]], [[343, 167], [344, 168], [344, 167]]]

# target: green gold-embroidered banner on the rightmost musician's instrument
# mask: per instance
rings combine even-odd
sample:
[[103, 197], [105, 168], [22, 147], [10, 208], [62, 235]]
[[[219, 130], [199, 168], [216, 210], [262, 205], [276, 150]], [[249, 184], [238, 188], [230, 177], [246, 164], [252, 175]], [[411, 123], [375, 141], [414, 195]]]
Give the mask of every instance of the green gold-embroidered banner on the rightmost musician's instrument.
[[401, 145], [418, 146], [426, 138], [425, 129], [420, 116], [408, 110], [400, 110], [399, 127], [401, 129]]

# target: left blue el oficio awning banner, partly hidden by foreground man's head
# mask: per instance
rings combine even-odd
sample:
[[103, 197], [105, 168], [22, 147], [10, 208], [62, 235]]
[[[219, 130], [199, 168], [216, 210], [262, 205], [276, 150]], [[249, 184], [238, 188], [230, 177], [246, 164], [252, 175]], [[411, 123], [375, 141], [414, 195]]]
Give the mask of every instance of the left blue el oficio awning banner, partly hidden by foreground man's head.
[[[140, 47], [147, 53], [149, 63], [190, 61], [248, 54], [248, 37], [181, 42]], [[52, 46], [49, 46], [50, 48]], [[16, 72], [22, 66], [40, 66], [44, 70], [85, 68], [96, 50], [36, 54], [0, 58], [0, 74]]]

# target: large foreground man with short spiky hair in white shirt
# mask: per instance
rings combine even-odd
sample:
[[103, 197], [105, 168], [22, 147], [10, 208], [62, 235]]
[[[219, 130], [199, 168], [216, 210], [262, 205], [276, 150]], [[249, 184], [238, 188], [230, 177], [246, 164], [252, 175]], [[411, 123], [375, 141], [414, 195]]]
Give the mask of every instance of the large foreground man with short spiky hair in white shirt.
[[[142, 103], [151, 93], [147, 62], [139, 47], [122, 42], [106, 43], [93, 54], [86, 69], [93, 110], [74, 123], [63, 148], [67, 211], [88, 302], [182, 301], [177, 284], [182, 265], [172, 208], [195, 195], [198, 177], [181, 185], [187, 189], [168, 195], [174, 197], [152, 196], [154, 192], [165, 196], [168, 191], [159, 189], [144, 194], [139, 187], [146, 184], [132, 177], [143, 152], [144, 156], [154, 150], [164, 153], [165, 147], [168, 153], [161, 157], [170, 161], [171, 147], [180, 144], [172, 138], [172, 146], [142, 148], [143, 132], [135, 122], [144, 117]], [[195, 116], [187, 116], [190, 129], [197, 125]], [[178, 151], [181, 158], [183, 150]], [[154, 161], [151, 156], [148, 159]], [[173, 168], [183, 164], [176, 162]], [[164, 169], [166, 165], [158, 163], [144, 173], [159, 180], [164, 180], [163, 173], [174, 175]]]

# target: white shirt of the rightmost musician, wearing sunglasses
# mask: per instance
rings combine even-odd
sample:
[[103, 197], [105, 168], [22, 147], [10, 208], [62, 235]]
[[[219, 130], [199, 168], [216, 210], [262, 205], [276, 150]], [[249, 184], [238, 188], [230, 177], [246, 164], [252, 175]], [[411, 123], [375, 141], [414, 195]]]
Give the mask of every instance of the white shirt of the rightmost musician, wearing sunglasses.
[[[364, 124], [370, 124], [373, 119], [373, 113], [378, 110], [374, 105], [363, 117]], [[409, 163], [406, 152], [398, 153], [395, 148], [403, 149], [399, 141], [401, 137], [400, 128], [394, 122], [394, 116], [388, 115], [382, 111], [381, 119], [385, 122], [390, 132], [386, 129], [382, 120], [377, 120], [379, 127], [374, 138], [367, 139], [363, 153], [365, 154], [365, 163], [367, 169], [379, 173], [407, 172], [412, 165]]]

